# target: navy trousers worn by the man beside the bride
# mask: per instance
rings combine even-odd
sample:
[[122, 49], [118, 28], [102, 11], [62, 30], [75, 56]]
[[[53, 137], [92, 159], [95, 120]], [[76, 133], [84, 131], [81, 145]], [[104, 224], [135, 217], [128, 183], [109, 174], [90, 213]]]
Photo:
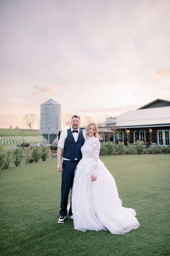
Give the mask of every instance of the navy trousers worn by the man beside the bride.
[[[78, 160], [74, 161], [68, 161], [63, 160], [63, 171], [61, 174], [62, 181], [61, 181], [61, 210], [60, 210], [60, 216], [66, 216], [67, 215], [67, 204], [68, 204], [68, 195], [70, 192], [70, 189], [72, 190], [73, 187], [73, 180], [74, 180], [74, 172], [75, 168], [78, 165]], [[70, 201], [70, 209], [69, 209], [69, 215], [72, 214], [72, 197]]]

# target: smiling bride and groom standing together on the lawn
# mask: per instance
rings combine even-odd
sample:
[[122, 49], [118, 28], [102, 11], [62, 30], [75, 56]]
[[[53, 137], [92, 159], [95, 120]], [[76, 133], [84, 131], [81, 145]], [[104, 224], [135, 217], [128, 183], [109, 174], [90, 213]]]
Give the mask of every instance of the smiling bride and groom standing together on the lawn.
[[109, 230], [112, 234], [125, 234], [138, 228], [140, 224], [135, 210], [121, 206], [114, 178], [99, 159], [97, 125], [89, 123], [86, 131], [81, 130], [80, 117], [77, 115], [72, 117], [71, 125], [72, 128], [61, 133], [58, 142], [57, 168], [62, 172], [58, 223], [64, 223], [66, 219], [71, 188], [69, 218], [73, 219], [75, 229]]

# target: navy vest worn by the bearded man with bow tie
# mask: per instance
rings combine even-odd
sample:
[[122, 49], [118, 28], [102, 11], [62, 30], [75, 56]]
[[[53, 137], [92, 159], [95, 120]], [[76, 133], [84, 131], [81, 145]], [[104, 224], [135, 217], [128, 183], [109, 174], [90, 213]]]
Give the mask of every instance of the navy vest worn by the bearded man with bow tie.
[[83, 136], [83, 130], [80, 130], [78, 133], [78, 139], [77, 142], [75, 142], [73, 137], [73, 132], [71, 129], [67, 130], [67, 138], [64, 143], [64, 154], [63, 158], [69, 159], [74, 161], [75, 158], [77, 160], [81, 160], [82, 154], [81, 154], [81, 147], [84, 145], [84, 136]]

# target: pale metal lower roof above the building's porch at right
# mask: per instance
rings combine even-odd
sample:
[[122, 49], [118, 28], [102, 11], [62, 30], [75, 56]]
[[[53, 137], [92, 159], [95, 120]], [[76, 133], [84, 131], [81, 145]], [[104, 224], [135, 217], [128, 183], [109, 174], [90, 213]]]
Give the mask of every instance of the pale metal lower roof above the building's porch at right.
[[116, 126], [119, 127], [169, 123], [170, 106], [132, 110], [116, 117]]

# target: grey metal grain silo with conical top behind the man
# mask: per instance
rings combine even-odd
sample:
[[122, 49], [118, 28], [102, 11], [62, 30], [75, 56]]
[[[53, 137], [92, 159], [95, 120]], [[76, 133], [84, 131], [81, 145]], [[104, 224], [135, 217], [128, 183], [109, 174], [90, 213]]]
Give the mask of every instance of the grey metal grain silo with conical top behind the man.
[[61, 132], [61, 105], [54, 100], [48, 100], [41, 104], [40, 110], [40, 130], [41, 135], [52, 143], [57, 138], [59, 131]]

